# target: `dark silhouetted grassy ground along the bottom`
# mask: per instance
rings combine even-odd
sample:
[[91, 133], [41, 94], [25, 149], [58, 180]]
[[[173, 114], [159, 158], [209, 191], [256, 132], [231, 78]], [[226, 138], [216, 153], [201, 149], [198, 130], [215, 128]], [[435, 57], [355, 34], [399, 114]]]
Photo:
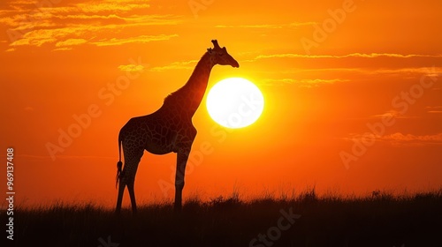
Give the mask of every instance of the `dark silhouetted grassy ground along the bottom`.
[[[301, 217], [290, 222], [281, 211]], [[141, 206], [136, 216], [61, 203], [14, 214], [11, 246], [442, 246], [442, 190], [318, 198], [312, 189], [247, 202], [234, 193], [187, 199], [179, 215], [170, 203]]]

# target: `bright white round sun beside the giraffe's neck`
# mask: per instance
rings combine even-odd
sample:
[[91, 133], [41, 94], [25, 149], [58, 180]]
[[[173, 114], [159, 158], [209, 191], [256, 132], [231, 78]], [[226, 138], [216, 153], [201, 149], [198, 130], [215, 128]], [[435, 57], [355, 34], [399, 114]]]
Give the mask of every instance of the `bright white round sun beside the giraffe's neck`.
[[264, 97], [248, 79], [229, 78], [210, 88], [206, 106], [215, 122], [238, 129], [258, 120], [263, 113]]

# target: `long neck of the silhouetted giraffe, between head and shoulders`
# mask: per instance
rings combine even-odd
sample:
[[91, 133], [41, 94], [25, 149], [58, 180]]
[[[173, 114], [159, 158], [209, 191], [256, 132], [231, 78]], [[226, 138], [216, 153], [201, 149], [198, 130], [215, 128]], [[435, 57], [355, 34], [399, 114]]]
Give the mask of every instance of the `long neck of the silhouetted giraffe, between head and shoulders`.
[[186, 116], [194, 116], [206, 92], [212, 67], [213, 64], [210, 61], [210, 54], [206, 52], [198, 64], [196, 64], [186, 85], [169, 95], [164, 101], [164, 105], [166, 105], [167, 101], [170, 101], [171, 107], [180, 109]]

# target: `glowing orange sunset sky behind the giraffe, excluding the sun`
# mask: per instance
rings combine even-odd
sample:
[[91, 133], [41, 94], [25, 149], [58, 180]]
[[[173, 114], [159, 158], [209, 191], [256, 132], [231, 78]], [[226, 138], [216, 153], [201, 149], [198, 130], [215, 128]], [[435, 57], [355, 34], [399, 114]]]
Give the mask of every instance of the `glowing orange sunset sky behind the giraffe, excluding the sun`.
[[[113, 206], [119, 129], [184, 85], [212, 39], [240, 69], [216, 66], [209, 87], [249, 79], [265, 108], [227, 131], [203, 99], [185, 199], [440, 188], [441, 2], [299, 2], [2, 1], [0, 154], [15, 149], [19, 203]], [[144, 154], [138, 201], [171, 200], [175, 156]]]

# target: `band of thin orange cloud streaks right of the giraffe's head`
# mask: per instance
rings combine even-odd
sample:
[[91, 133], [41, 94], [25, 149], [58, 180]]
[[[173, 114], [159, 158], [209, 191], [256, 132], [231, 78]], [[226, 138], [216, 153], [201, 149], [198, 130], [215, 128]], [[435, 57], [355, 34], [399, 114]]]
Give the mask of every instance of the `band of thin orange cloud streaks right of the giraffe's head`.
[[[275, 59], [285, 61], [285, 63], [279, 63], [278, 69], [275, 69]], [[434, 65], [427, 67], [428, 61]], [[246, 55], [246, 58], [241, 59], [241, 62], [265, 63], [265, 66], [272, 68], [272, 71], [268, 72], [274, 74], [275, 77], [286, 74], [285, 77], [288, 78], [290, 78], [290, 74], [298, 78], [300, 75], [306, 74], [309, 78], [314, 72], [323, 77], [341, 79], [363, 79], [361, 76], [382, 79], [420, 79], [423, 75], [431, 78], [442, 77], [442, 67], [440, 67], [442, 55], [351, 53], [335, 56], [280, 53]]]

